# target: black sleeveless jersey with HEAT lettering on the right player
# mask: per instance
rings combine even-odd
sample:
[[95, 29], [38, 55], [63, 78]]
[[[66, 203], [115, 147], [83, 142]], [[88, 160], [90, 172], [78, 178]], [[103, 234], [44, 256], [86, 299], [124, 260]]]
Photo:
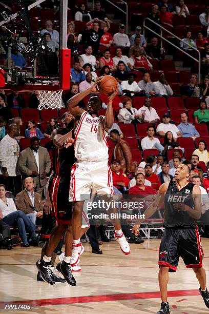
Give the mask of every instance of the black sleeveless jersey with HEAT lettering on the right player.
[[166, 228], [196, 228], [194, 219], [187, 211], [176, 210], [173, 206], [175, 203], [183, 203], [191, 208], [194, 208], [193, 201], [193, 183], [188, 183], [185, 187], [179, 190], [176, 186], [176, 181], [171, 181], [168, 190], [165, 194], [165, 215], [164, 226]]

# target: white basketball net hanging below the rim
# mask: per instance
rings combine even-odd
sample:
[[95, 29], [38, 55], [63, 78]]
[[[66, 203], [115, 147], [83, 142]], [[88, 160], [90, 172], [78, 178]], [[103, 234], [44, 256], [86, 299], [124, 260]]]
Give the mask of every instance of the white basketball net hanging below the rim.
[[39, 105], [38, 110], [42, 109], [60, 109], [62, 108], [61, 100], [62, 90], [49, 91], [49, 90], [39, 90]]

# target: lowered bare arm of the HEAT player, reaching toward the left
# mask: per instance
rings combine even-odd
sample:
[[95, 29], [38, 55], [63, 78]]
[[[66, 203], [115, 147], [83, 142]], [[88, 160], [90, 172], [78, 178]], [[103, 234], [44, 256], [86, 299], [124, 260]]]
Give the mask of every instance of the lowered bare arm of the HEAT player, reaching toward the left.
[[163, 203], [164, 198], [165, 198], [164, 195], [168, 189], [168, 186], [169, 186], [169, 182], [165, 182], [160, 186], [159, 191], [158, 191], [159, 194], [157, 195], [155, 201], [144, 211], [144, 218], [136, 221], [132, 229], [132, 232], [135, 235], [139, 234], [140, 223], [152, 217], [152, 215], [156, 212], [159, 206]]

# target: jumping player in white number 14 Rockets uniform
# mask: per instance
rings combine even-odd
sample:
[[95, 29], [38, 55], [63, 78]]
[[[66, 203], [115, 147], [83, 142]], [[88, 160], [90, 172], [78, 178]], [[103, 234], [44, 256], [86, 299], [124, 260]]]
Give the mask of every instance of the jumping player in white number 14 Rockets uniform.
[[[73, 96], [67, 103], [68, 109], [75, 117], [74, 149], [77, 162], [72, 166], [69, 200], [74, 202], [73, 207], [73, 251], [70, 264], [75, 265], [82, 251], [80, 243], [81, 214], [83, 201], [90, 199], [91, 189], [94, 188], [98, 195], [111, 202], [113, 194], [112, 171], [108, 165], [108, 130], [114, 122], [112, 102], [118, 92], [118, 88], [109, 96], [106, 116], [99, 116], [98, 112], [102, 102], [98, 96], [90, 97], [87, 111], [81, 109], [77, 104], [96, 89], [99, 77], [95, 84], [86, 91]], [[116, 213], [116, 208], [110, 208]], [[122, 252], [130, 253], [129, 244], [121, 230], [119, 219], [111, 220], [115, 227], [115, 239], [119, 243]]]

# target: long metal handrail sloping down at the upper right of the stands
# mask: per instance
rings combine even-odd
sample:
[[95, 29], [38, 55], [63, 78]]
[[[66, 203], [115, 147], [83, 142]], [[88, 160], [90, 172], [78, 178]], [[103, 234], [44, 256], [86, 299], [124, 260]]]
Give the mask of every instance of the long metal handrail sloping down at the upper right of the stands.
[[[149, 21], [151, 23], [153, 23], [154, 25], [156, 25], [157, 27], [160, 28], [160, 34], [156, 33], [153, 29], [151, 29], [150, 27], [148, 27], [147, 25], [145, 25], [145, 22]], [[179, 51], [181, 51], [182, 53], [184, 53], [185, 55], [189, 56], [190, 58], [192, 58], [194, 61], [198, 62], [198, 83], [200, 84], [200, 67], [201, 67], [201, 56], [200, 56], [200, 52], [198, 49], [190, 46], [189, 44], [185, 43], [181, 38], [179, 38], [178, 36], [176, 36], [174, 33], [170, 32], [168, 29], [164, 28], [162, 25], [154, 22], [152, 19], [150, 19], [149, 17], [145, 17], [144, 21], [143, 21], [143, 34], [145, 32], [145, 29], [148, 29], [150, 32], [154, 33], [156, 36], [161, 38], [161, 48], [162, 48], [162, 39], [163, 41], [169, 43], [170, 45], [172, 45], [173, 47], [175, 47], [176, 49], [178, 49]], [[173, 44], [172, 42], [170, 42], [167, 38], [163, 37], [162, 35], [162, 31], [168, 32], [170, 35], [172, 35], [173, 37], [177, 38], [177, 40], [179, 40], [180, 42], [183, 42], [184, 44], [186, 44], [187, 46], [190, 47], [190, 49], [192, 48], [193, 50], [195, 50], [198, 54], [198, 59], [193, 57], [192, 55], [190, 55], [189, 53], [187, 53], [185, 50], [181, 49], [180, 47], [176, 46], [175, 44]]]

